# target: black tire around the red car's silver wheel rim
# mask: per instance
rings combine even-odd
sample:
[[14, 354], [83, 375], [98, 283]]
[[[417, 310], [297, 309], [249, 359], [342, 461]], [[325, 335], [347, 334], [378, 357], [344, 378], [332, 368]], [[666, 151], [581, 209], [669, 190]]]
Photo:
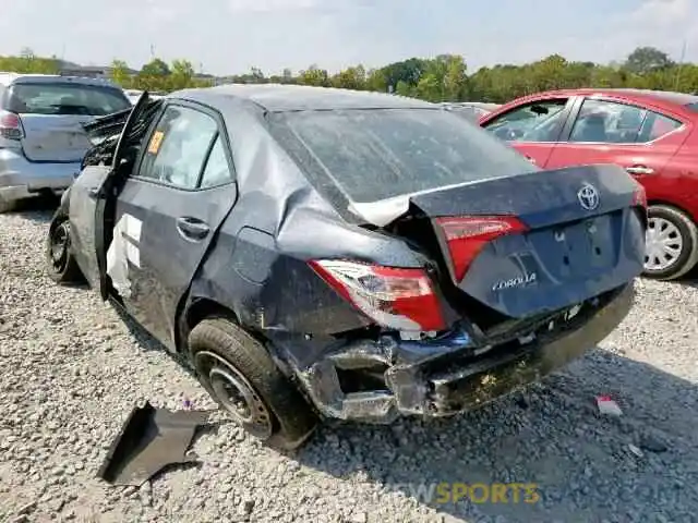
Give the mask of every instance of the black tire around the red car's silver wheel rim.
[[[685, 212], [667, 205], [651, 205], [647, 209], [647, 216], [650, 224], [652, 224], [653, 220], [662, 220], [676, 228], [677, 233], [673, 238], [681, 236], [677, 240], [681, 242], [681, 251], [675, 260], [667, 267], [652, 269], [649, 266], [650, 245], [648, 244], [648, 256], [645, 258], [646, 266], [642, 276], [663, 281], [683, 277], [698, 263], [698, 227]], [[648, 233], [649, 236], [650, 234]]]

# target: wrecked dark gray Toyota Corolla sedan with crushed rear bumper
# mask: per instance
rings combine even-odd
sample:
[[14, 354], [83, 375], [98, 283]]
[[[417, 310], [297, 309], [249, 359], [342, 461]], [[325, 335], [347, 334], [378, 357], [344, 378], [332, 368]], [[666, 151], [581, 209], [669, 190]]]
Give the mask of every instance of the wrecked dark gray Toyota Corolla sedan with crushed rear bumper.
[[618, 325], [642, 270], [630, 175], [540, 170], [437, 105], [228, 85], [86, 129], [51, 277], [87, 280], [272, 445], [537, 380]]

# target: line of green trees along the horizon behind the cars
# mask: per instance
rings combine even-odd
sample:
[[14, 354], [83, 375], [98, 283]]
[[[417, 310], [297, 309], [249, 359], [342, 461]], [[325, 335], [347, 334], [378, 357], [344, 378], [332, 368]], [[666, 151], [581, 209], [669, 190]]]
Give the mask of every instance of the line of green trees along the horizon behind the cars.
[[[0, 71], [56, 74], [60, 61], [36, 57], [25, 49], [19, 57], [0, 57]], [[249, 73], [214, 78], [196, 74], [188, 60], [167, 63], [159, 58], [133, 73], [122, 60], [110, 65], [111, 78], [124, 88], [171, 92], [215, 83], [282, 83], [395, 93], [429, 101], [504, 102], [540, 90], [576, 87], [631, 87], [698, 93], [698, 64], [676, 63], [653, 47], [635, 49], [624, 61], [610, 64], [568, 61], [559, 54], [524, 65], [498, 64], [470, 73], [465, 57], [441, 54], [432, 59], [410, 58], [383, 68], [347, 68], [336, 74], [311, 65], [293, 73]]]

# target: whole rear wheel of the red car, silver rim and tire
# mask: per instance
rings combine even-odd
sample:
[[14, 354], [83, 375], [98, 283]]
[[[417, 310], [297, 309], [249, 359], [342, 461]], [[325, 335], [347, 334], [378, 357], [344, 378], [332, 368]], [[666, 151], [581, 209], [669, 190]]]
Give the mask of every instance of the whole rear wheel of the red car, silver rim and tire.
[[666, 205], [648, 209], [643, 276], [657, 280], [681, 278], [698, 262], [698, 228], [681, 210]]

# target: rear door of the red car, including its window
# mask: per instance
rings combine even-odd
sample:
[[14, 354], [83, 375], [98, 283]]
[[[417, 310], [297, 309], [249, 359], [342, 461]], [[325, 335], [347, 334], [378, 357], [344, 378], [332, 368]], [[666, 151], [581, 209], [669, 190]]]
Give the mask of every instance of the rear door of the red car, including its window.
[[666, 167], [687, 136], [681, 117], [622, 100], [583, 98], [547, 167], [616, 163], [645, 181]]

